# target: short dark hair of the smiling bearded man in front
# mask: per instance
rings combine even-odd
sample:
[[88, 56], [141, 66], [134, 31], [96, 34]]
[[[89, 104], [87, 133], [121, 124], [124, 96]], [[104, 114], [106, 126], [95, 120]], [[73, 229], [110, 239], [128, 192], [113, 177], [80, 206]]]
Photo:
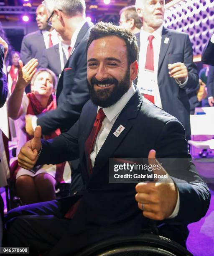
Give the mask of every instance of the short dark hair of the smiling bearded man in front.
[[112, 23], [104, 23], [102, 21], [98, 22], [92, 28], [87, 43], [87, 51], [92, 41], [107, 36], [117, 36], [125, 41], [128, 65], [137, 60], [138, 43], [136, 37], [125, 28], [118, 27]]

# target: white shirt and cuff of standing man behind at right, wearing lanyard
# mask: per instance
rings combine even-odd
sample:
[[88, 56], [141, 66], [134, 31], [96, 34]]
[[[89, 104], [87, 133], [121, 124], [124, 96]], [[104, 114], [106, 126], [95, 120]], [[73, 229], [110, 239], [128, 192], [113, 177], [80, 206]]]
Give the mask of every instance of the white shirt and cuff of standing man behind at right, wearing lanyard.
[[[162, 108], [161, 96], [158, 87], [158, 62], [161, 49], [161, 39], [162, 39], [163, 25], [155, 30], [153, 33], [148, 33], [140, 29], [140, 49], [139, 49], [139, 72], [138, 72], [138, 82], [137, 86], [140, 92], [143, 94], [153, 95], [155, 100], [155, 105]], [[148, 36], [153, 35], [153, 53], [154, 53], [154, 72], [145, 70], [146, 53], [148, 47]], [[173, 64], [173, 63], [171, 63]], [[165, 74], [169, 76], [169, 74]], [[184, 83], [180, 83], [177, 79], [176, 82], [179, 87], [184, 87], [188, 81], [188, 77]]]

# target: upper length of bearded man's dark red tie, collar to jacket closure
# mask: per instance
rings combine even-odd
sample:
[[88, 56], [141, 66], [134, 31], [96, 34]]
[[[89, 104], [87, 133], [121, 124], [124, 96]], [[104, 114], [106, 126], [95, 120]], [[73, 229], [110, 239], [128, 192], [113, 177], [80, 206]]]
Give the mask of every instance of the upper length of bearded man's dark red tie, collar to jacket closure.
[[106, 115], [103, 112], [102, 108], [100, 108], [97, 113], [97, 117], [94, 121], [92, 131], [91, 131], [89, 137], [87, 138], [87, 141], [85, 142], [85, 154], [86, 154], [86, 159], [87, 159], [87, 168], [88, 168], [90, 174], [92, 174], [92, 169], [93, 169], [92, 162], [90, 159], [90, 154], [92, 152], [94, 141], [97, 138], [97, 133], [99, 132], [99, 130], [102, 126], [102, 121], [104, 120], [105, 116]]

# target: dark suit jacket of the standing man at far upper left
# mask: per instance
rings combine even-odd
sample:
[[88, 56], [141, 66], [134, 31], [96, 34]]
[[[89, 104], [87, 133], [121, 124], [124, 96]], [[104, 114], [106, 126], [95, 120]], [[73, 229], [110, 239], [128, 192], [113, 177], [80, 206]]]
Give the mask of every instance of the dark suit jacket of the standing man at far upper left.
[[20, 59], [24, 65], [32, 58], [38, 59], [38, 63], [40, 63], [44, 49], [46, 49], [46, 46], [42, 32], [38, 30], [29, 33], [23, 37]]

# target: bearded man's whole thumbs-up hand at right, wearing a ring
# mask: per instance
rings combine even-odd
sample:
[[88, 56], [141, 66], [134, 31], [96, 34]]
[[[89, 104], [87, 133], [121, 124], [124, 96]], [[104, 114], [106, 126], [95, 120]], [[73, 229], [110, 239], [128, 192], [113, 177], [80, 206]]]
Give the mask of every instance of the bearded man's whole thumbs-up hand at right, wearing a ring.
[[[158, 165], [155, 158], [155, 150], [150, 150], [148, 155], [148, 163]], [[153, 169], [153, 173], [158, 175], [168, 175], [166, 170]], [[153, 174], [153, 175], [154, 175]], [[152, 220], [163, 220], [168, 218], [176, 207], [178, 192], [176, 185], [168, 175], [167, 183], [162, 180], [155, 179], [155, 182], [138, 183], [135, 187], [137, 194], [135, 199], [138, 207], [143, 210], [143, 215]]]

